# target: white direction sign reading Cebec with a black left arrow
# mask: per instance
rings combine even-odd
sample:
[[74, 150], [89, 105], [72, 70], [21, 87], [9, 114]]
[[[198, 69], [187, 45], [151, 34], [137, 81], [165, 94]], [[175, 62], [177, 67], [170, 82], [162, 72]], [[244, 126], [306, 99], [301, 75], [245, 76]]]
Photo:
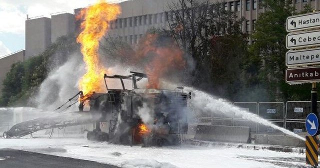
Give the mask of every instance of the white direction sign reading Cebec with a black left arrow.
[[302, 48], [320, 45], [320, 30], [289, 33], [286, 35], [286, 48]]

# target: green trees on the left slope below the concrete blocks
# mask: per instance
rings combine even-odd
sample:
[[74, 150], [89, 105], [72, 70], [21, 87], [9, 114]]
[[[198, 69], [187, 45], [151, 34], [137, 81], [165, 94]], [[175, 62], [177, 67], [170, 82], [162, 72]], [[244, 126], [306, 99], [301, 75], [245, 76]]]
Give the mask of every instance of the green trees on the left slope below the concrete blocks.
[[28, 99], [35, 95], [48, 71], [65, 62], [75, 51], [79, 51], [75, 37], [61, 36], [39, 55], [13, 63], [3, 81], [0, 106], [32, 105]]

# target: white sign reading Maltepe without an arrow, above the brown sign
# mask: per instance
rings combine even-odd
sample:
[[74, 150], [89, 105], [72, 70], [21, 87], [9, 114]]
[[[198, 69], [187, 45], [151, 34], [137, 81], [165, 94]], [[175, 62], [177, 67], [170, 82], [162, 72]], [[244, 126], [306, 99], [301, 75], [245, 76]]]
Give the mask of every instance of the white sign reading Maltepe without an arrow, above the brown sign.
[[287, 66], [316, 63], [320, 63], [320, 48], [289, 50], [285, 54]]

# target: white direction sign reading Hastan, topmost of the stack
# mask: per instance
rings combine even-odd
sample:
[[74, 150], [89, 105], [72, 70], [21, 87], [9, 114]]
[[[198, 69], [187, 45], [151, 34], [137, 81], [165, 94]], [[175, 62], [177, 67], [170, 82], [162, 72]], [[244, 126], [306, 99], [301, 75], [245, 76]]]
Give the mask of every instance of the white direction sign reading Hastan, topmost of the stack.
[[293, 15], [286, 19], [286, 31], [320, 27], [320, 12]]

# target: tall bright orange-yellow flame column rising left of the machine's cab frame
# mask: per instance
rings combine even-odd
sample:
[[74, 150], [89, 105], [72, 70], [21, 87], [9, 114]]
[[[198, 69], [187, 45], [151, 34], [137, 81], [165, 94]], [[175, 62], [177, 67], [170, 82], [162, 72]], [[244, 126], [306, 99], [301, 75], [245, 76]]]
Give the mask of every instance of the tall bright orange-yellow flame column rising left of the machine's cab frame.
[[103, 75], [108, 73], [99, 59], [99, 40], [109, 28], [109, 22], [121, 13], [120, 6], [99, 0], [97, 3], [82, 9], [77, 15], [81, 19], [81, 32], [76, 41], [81, 44], [81, 52], [86, 65], [86, 73], [81, 77], [78, 87], [83, 94], [93, 91], [103, 92]]

